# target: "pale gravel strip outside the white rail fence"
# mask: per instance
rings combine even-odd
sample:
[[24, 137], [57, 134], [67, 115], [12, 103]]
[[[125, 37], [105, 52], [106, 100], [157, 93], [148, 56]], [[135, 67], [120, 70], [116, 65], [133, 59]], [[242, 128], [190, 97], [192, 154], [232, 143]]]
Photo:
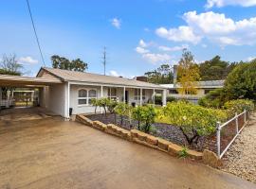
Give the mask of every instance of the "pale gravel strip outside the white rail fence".
[[222, 169], [256, 182], [256, 113], [224, 157]]

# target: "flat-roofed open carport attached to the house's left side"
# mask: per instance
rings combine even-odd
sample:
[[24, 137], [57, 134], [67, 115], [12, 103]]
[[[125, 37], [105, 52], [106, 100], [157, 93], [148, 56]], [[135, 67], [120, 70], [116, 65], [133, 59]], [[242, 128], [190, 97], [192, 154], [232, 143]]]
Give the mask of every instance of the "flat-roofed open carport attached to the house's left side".
[[[0, 109], [9, 108], [15, 105], [15, 98], [13, 98], [13, 92], [15, 88], [22, 88], [20, 93], [30, 95], [29, 101], [34, 99], [34, 91], [37, 92], [36, 103], [31, 106], [41, 106], [47, 108], [46, 104], [46, 92], [49, 88], [54, 88], [56, 85], [60, 85], [63, 82], [58, 78], [53, 77], [21, 77], [21, 76], [9, 76], [0, 75]], [[3, 96], [5, 91], [5, 96]], [[17, 96], [16, 96], [17, 97]]]

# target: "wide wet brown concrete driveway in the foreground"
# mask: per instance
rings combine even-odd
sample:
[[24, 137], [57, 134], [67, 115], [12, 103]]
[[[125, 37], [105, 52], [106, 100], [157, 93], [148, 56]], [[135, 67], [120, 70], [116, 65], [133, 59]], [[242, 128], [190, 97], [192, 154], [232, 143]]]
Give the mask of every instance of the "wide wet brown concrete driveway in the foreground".
[[57, 116], [15, 117], [0, 119], [0, 188], [256, 188]]

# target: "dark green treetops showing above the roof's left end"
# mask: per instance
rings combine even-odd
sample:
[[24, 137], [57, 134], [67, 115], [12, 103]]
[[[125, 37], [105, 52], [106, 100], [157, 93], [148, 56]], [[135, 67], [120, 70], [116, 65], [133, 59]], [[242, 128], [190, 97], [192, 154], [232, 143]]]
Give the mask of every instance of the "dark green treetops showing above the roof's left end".
[[53, 55], [51, 57], [52, 67], [59, 68], [63, 70], [72, 70], [78, 72], [85, 72], [88, 69], [88, 64], [81, 59], [68, 60], [64, 57], [58, 55]]

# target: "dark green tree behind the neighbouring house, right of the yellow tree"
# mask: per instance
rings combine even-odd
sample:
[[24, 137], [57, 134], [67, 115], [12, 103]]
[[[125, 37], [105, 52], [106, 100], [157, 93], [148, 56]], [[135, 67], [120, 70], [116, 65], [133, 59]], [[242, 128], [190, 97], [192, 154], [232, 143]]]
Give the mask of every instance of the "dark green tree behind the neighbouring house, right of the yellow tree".
[[206, 60], [199, 64], [201, 80], [226, 79], [235, 65], [236, 63], [229, 63], [221, 60], [219, 56], [215, 56], [212, 60]]

